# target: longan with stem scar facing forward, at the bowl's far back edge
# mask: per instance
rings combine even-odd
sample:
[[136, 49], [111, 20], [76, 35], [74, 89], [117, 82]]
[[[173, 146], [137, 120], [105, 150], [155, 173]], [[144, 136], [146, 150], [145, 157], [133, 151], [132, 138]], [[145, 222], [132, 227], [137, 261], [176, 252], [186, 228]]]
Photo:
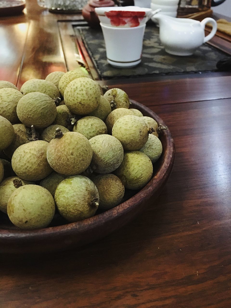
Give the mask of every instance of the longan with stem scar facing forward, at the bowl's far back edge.
[[121, 89], [113, 88], [108, 90], [103, 95], [109, 103], [111, 103], [115, 108], [129, 108], [130, 101], [128, 95]]

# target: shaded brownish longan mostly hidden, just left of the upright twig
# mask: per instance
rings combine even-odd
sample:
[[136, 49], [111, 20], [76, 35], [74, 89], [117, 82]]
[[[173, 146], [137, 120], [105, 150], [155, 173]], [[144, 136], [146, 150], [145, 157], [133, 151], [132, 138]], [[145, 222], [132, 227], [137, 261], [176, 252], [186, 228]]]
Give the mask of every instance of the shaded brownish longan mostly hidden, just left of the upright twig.
[[11, 144], [4, 150], [7, 157], [11, 158], [14, 151], [20, 147], [20, 145], [30, 142], [32, 137], [31, 129], [24, 124], [14, 124], [14, 139]]

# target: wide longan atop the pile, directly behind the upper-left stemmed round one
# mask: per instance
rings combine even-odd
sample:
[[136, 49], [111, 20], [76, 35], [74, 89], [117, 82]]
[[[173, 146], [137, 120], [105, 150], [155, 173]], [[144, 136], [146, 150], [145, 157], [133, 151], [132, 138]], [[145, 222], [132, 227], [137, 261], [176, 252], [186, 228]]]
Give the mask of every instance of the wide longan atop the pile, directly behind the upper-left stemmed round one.
[[44, 79], [30, 79], [24, 87], [23, 95], [31, 92], [40, 92], [56, 99], [60, 96], [59, 90], [54, 83]]

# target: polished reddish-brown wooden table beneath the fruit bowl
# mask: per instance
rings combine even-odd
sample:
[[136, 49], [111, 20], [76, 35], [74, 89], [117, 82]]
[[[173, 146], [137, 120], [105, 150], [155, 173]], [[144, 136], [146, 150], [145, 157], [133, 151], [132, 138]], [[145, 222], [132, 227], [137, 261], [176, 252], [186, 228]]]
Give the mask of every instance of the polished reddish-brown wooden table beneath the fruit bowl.
[[[64, 59], [60, 18], [80, 17], [48, 13], [31, 0], [25, 15], [0, 18], [0, 79], [20, 87], [75, 67]], [[0, 308], [229, 308], [230, 73], [101, 83], [121, 87], [168, 124], [176, 145], [168, 183], [152, 207], [98, 242], [1, 255]]]

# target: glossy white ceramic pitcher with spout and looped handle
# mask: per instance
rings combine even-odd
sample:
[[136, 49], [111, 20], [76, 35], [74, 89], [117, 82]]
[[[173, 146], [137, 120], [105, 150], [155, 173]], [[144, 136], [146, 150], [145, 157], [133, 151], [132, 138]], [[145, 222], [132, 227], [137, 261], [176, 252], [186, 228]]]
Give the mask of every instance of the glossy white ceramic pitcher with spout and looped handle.
[[[165, 51], [172, 55], [188, 56], [217, 32], [217, 22], [205, 18], [201, 22], [189, 18], [174, 18], [158, 13], [154, 16], [160, 25], [160, 41]], [[205, 25], [211, 22], [213, 29], [205, 37]]]

